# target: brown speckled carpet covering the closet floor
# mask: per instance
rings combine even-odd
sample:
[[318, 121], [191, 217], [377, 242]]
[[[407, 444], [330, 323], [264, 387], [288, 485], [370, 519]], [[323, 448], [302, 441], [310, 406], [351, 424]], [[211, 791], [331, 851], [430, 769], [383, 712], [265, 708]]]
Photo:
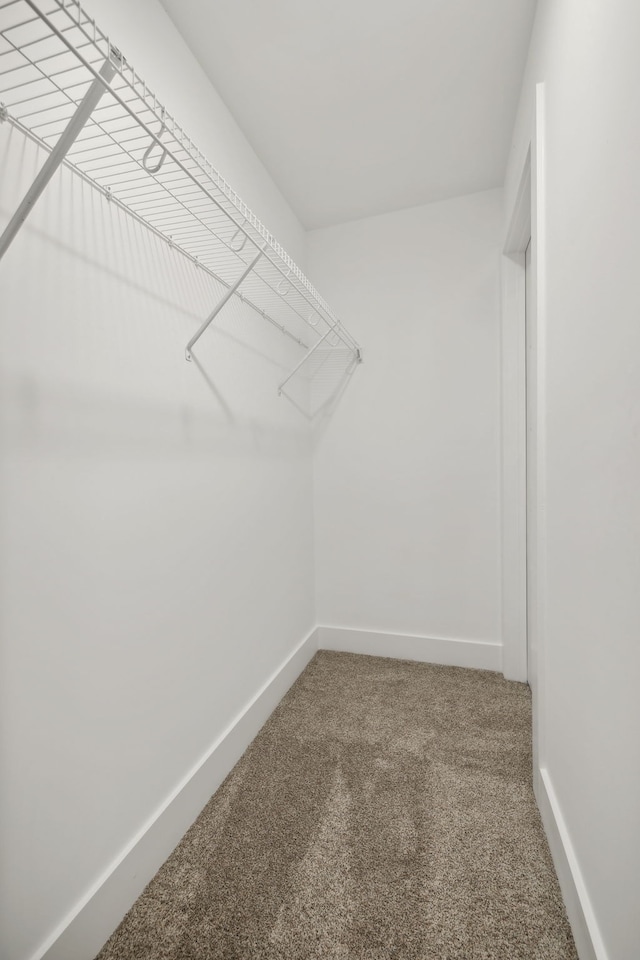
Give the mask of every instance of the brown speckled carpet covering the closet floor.
[[99, 960], [576, 960], [528, 687], [318, 653]]

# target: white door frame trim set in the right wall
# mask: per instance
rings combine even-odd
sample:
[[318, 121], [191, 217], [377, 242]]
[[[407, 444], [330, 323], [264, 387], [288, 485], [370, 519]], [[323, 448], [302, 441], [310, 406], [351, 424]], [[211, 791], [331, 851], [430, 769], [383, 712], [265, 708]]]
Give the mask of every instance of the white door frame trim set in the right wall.
[[[530, 137], [518, 170], [518, 188], [507, 209], [501, 264], [502, 406], [502, 656], [509, 680], [530, 682], [533, 695], [534, 785], [544, 763], [546, 600], [546, 317], [545, 317], [544, 84], [536, 85]], [[527, 551], [527, 419], [525, 249], [531, 237], [536, 313], [535, 548]], [[535, 554], [535, 555], [532, 555]], [[527, 674], [527, 563], [535, 567], [534, 676]]]

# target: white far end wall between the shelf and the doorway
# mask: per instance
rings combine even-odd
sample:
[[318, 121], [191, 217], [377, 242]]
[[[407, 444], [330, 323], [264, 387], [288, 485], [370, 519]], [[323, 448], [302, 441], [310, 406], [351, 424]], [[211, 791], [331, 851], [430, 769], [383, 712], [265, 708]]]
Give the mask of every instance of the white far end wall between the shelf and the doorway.
[[318, 622], [500, 639], [500, 191], [309, 234], [365, 346], [315, 456]]

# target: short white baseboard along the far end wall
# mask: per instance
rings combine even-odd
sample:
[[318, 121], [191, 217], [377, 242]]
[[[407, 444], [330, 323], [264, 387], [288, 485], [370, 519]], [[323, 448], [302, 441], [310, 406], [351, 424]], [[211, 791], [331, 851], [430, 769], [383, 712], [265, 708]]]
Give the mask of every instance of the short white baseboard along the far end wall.
[[502, 645], [479, 640], [443, 640], [345, 627], [318, 627], [318, 647], [320, 650], [364, 653], [372, 657], [395, 657], [421, 663], [439, 663], [449, 667], [498, 671], [502, 669]]

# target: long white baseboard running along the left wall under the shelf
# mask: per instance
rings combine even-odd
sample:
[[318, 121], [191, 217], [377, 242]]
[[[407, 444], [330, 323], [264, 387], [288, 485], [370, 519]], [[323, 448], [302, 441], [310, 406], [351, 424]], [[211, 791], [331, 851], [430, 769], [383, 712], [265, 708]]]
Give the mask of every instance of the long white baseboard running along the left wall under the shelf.
[[318, 649], [293, 651], [120, 852], [31, 960], [92, 960]]

